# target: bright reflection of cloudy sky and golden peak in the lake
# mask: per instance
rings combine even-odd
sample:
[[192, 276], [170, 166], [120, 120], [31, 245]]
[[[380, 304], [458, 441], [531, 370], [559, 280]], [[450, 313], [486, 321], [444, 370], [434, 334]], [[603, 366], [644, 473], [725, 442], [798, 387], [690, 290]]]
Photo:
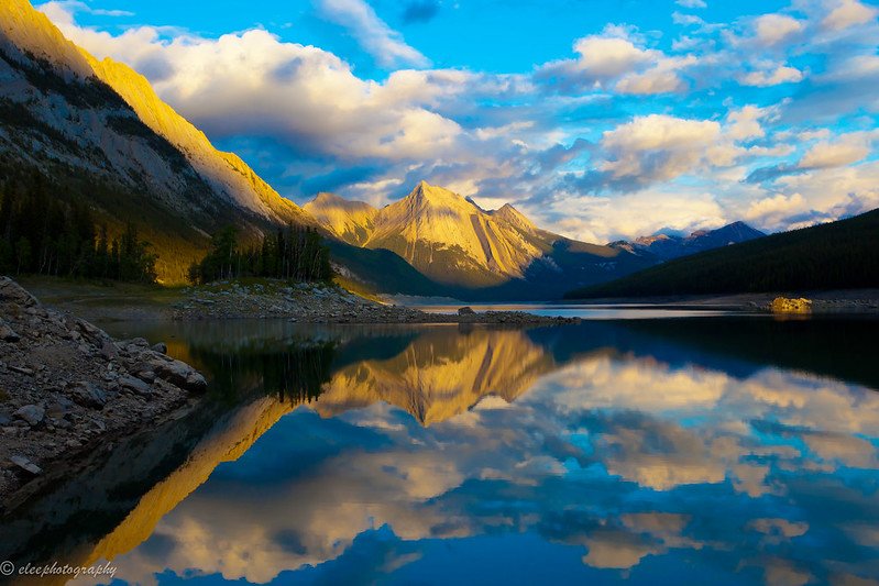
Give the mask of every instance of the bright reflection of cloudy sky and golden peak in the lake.
[[879, 394], [581, 333], [559, 353], [540, 332], [432, 328], [347, 356], [117, 557], [120, 576], [879, 576]]

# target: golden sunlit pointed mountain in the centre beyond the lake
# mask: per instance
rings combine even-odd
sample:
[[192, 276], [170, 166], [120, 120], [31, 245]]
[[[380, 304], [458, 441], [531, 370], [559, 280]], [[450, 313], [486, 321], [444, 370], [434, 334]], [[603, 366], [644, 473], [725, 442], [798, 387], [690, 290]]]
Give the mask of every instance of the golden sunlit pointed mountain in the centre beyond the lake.
[[509, 204], [485, 211], [426, 181], [380, 210], [330, 195], [305, 209], [337, 237], [393, 251], [462, 298], [549, 298], [572, 283], [598, 283], [653, 263], [541, 230]]

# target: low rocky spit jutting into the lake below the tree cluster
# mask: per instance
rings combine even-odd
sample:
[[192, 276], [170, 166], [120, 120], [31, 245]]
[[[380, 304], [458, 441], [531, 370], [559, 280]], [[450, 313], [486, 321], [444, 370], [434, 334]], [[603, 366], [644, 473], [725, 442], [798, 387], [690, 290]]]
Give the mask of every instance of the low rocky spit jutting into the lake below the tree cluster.
[[175, 320], [287, 319], [301, 323], [493, 323], [564, 324], [579, 318], [536, 316], [524, 311], [430, 313], [383, 305], [323, 284], [240, 284], [220, 281], [184, 290], [175, 303]]

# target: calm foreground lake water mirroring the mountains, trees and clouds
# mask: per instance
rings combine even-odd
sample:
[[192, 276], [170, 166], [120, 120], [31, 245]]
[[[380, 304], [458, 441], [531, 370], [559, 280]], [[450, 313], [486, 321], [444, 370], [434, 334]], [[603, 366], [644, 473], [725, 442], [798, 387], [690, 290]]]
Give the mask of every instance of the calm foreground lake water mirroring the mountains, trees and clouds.
[[142, 584], [879, 578], [872, 320], [116, 324], [210, 374], [0, 528]]

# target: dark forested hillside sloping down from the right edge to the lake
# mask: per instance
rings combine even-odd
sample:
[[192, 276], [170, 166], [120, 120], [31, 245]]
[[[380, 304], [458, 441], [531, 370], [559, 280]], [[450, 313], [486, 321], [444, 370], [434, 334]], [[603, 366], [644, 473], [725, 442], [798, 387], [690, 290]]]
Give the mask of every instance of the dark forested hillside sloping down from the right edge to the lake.
[[806, 291], [879, 287], [879, 210], [669, 261], [565, 297]]

